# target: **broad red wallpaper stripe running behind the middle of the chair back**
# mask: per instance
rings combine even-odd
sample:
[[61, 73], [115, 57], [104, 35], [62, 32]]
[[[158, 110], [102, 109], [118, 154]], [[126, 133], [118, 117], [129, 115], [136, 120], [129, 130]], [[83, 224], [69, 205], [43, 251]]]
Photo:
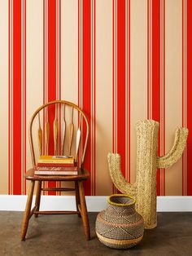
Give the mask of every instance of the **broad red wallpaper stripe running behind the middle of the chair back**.
[[[48, 1], [48, 101], [56, 99], [56, 2]], [[50, 145], [49, 154], [54, 155], [55, 106], [49, 107]], [[55, 182], [49, 182], [49, 187], [56, 187]], [[55, 192], [49, 192], [55, 195]]]

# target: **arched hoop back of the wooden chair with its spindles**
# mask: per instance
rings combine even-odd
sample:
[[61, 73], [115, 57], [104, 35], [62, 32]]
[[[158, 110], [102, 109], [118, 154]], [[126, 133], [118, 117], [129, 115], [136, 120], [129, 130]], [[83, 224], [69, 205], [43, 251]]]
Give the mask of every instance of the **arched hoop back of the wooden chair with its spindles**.
[[[87, 149], [87, 144], [88, 144], [88, 139], [89, 139], [89, 122], [87, 117], [85, 116], [85, 113], [81, 108], [79, 108], [76, 104], [73, 104], [72, 102], [66, 101], [66, 100], [54, 100], [50, 101], [46, 104], [41, 105], [41, 107], [37, 108], [35, 113], [33, 113], [33, 116], [31, 117], [31, 120], [29, 122], [29, 144], [30, 144], [30, 150], [31, 150], [31, 156], [32, 156], [32, 161], [33, 161], [33, 166], [36, 166], [36, 157], [35, 157], [35, 150], [34, 150], [34, 143], [33, 143], [33, 122], [38, 117], [38, 132], [37, 132], [37, 139], [38, 139], [38, 148], [39, 148], [39, 154], [41, 155], [43, 150], [43, 142], [46, 144], [46, 148], [48, 148], [49, 152], [49, 143], [50, 143], [50, 123], [49, 123], [49, 109], [50, 106], [53, 105], [55, 106], [55, 121], [53, 122], [53, 138], [54, 138], [54, 146], [55, 146], [55, 152], [54, 154], [58, 155], [63, 155], [64, 154], [64, 148], [65, 147], [65, 136], [66, 136], [66, 131], [68, 131], [68, 154], [71, 154], [72, 152], [72, 142], [73, 142], [73, 135], [74, 135], [74, 110], [78, 114], [78, 124], [76, 126], [76, 156], [75, 158], [78, 158], [78, 150], [80, 147], [80, 141], [82, 145], [82, 150], [81, 150], [81, 167], [84, 165], [85, 161], [85, 153]], [[63, 108], [62, 108], [63, 107]], [[65, 108], [69, 107], [72, 108], [72, 116], [70, 124], [67, 126], [66, 119], [65, 119], [65, 113], [66, 110]], [[62, 110], [63, 109], [63, 110]], [[43, 110], [43, 120], [44, 120], [44, 128], [43, 131], [41, 129], [41, 110]], [[47, 113], [45, 114], [45, 110]], [[58, 115], [58, 113], [60, 113]], [[59, 117], [58, 117], [59, 116]], [[62, 116], [62, 117], [61, 117]], [[58, 120], [59, 119], [59, 120]], [[81, 121], [82, 119], [82, 121]], [[45, 126], [45, 120], [46, 120], [46, 126]], [[61, 122], [63, 121], [63, 126], [61, 125]], [[51, 124], [52, 125], [52, 124]], [[59, 127], [62, 127], [62, 129], [59, 129]], [[84, 130], [83, 135], [81, 136], [81, 128]], [[68, 130], [67, 130], [68, 129]], [[61, 131], [63, 130], [63, 135], [61, 135]], [[44, 134], [43, 134], [44, 132]], [[81, 137], [85, 137], [81, 139]], [[63, 142], [59, 141], [59, 139], [63, 139]], [[82, 143], [83, 141], [83, 143]], [[59, 150], [58, 153], [58, 144], [63, 144], [62, 150]], [[45, 148], [45, 147], [44, 147]], [[60, 147], [61, 148], [61, 147]], [[45, 150], [44, 150], [45, 153]]]

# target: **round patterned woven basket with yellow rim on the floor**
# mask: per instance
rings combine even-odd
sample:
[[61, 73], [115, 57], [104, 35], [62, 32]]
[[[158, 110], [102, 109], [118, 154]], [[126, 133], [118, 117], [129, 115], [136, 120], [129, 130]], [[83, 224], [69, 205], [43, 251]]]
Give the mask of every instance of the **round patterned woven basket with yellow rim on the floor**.
[[128, 195], [108, 197], [107, 210], [98, 214], [96, 234], [104, 245], [116, 249], [128, 249], [142, 240], [143, 218], [135, 210], [135, 200]]

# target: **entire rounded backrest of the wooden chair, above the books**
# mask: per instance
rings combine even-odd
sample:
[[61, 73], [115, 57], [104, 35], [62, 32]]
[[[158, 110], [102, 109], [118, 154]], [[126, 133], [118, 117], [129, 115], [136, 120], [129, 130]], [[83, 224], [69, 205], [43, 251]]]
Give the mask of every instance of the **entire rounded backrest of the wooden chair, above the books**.
[[[50, 105], [55, 105], [55, 108], [50, 108]], [[66, 115], [67, 108], [68, 115]], [[52, 117], [55, 116], [55, 120], [50, 122], [51, 119], [49, 120], [49, 115]], [[37, 120], [37, 122], [34, 122], [34, 120]], [[45, 120], [45, 122], [43, 122], [45, 124], [44, 128], [41, 126], [41, 120]], [[36, 123], [36, 125], [34, 125], [34, 123]], [[50, 135], [50, 126], [53, 127], [53, 135]], [[85, 129], [83, 134], [81, 131], [82, 127]], [[35, 138], [33, 138], [34, 129], [37, 130], [37, 143], [33, 142]], [[83, 139], [82, 135], [84, 137]], [[55, 155], [72, 155], [76, 161], [78, 160], [78, 165], [83, 167], [88, 137], [89, 124], [87, 117], [76, 104], [65, 100], [55, 100], [43, 104], [33, 114], [29, 124], [29, 143], [33, 166], [36, 166], [36, 159], [38, 158], [35, 152], [38, 152], [39, 155], [49, 155], [51, 141]], [[37, 147], [37, 145], [38, 150], [35, 150], [34, 146]], [[79, 154], [80, 145], [82, 150]], [[80, 159], [78, 159], [78, 156]]]

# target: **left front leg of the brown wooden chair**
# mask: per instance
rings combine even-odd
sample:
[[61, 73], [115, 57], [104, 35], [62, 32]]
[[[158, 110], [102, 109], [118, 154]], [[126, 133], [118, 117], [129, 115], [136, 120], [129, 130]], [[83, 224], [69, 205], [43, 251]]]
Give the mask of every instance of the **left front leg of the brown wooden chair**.
[[31, 181], [30, 188], [28, 190], [28, 200], [26, 203], [25, 211], [24, 211], [24, 218], [23, 218], [23, 223], [21, 226], [21, 232], [20, 232], [20, 237], [21, 240], [25, 240], [26, 233], [28, 231], [28, 221], [30, 218], [30, 213], [31, 213], [31, 205], [32, 205], [32, 200], [33, 200], [33, 190], [34, 190], [34, 181]]

